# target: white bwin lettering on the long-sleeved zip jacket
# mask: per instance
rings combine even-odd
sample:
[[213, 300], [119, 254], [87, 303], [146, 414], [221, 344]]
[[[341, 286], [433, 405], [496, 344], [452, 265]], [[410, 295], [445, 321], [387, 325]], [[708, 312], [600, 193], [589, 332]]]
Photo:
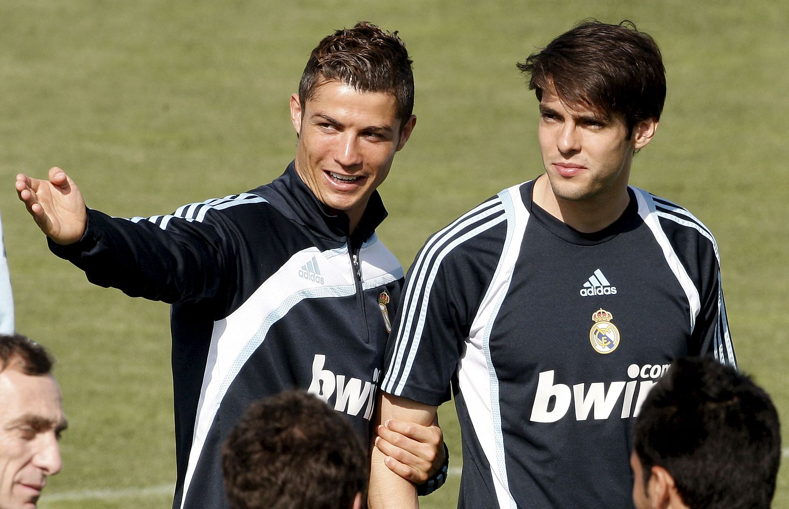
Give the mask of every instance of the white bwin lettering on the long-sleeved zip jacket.
[[376, 368], [372, 372], [372, 382], [362, 381], [358, 378], [346, 380], [345, 375], [335, 375], [334, 372], [323, 369], [325, 362], [325, 355], [315, 354], [312, 359], [312, 382], [310, 382], [307, 392], [327, 403], [336, 392], [335, 410], [350, 415], [359, 415], [366, 403], [365, 419], [369, 421], [372, 417], [372, 406], [376, 400], [376, 382], [378, 382], [380, 371]]

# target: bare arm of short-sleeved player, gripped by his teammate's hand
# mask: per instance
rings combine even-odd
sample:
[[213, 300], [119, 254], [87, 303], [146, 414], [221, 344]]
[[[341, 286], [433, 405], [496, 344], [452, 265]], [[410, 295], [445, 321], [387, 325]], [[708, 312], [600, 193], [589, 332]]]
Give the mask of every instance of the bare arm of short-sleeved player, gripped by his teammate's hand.
[[[374, 424], [380, 425], [388, 421], [391, 425], [393, 419], [430, 426], [436, 420], [436, 407], [383, 394], [379, 399]], [[368, 492], [370, 509], [414, 509], [419, 507], [417, 489], [413, 483], [394, 473], [394, 470], [388, 466], [389, 463], [396, 460], [391, 456], [387, 457], [379, 447], [371, 447], [371, 456]]]

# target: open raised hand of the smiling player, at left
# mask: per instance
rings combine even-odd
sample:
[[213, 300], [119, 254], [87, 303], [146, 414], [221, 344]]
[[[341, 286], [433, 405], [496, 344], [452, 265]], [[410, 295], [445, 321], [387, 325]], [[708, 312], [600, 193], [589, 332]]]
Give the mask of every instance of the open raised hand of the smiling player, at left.
[[80, 240], [88, 224], [85, 200], [74, 181], [58, 167], [49, 170], [49, 180], [17, 175], [17, 195], [41, 231], [58, 244]]

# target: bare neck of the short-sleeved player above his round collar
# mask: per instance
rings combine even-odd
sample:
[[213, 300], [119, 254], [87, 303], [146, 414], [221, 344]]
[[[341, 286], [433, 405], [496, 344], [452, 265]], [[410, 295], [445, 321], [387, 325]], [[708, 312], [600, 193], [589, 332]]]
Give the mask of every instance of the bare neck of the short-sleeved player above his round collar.
[[594, 196], [591, 199], [564, 200], [553, 193], [546, 174], [540, 175], [534, 182], [532, 199], [548, 214], [585, 234], [603, 230], [614, 223], [630, 203], [626, 185], [615, 193]]

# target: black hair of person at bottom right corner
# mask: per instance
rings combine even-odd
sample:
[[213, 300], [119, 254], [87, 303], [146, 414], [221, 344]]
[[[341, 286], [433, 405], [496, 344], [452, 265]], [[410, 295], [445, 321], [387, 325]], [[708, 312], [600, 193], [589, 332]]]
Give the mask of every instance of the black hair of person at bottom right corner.
[[671, 365], [644, 400], [633, 441], [644, 483], [662, 466], [691, 509], [770, 507], [781, 455], [776, 407], [712, 357]]

